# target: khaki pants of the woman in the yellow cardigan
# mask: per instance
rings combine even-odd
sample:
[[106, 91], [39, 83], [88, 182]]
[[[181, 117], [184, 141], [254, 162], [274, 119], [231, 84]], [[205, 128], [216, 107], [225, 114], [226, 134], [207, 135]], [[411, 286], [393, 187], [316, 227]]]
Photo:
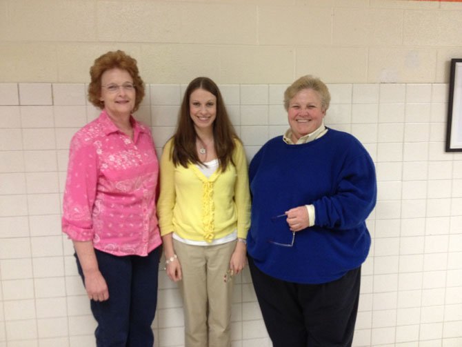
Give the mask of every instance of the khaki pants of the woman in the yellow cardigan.
[[231, 346], [232, 279], [230, 268], [236, 241], [216, 246], [191, 246], [173, 240], [183, 279], [179, 289], [185, 316], [185, 347]]

